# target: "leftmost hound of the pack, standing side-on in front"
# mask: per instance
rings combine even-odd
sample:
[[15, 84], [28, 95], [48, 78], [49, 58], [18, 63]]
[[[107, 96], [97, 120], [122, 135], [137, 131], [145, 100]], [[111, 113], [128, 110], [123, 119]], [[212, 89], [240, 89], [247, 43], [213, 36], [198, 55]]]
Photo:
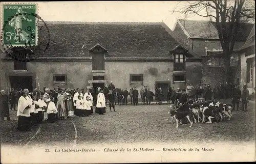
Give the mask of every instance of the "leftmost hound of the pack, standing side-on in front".
[[176, 128], [179, 127], [179, 121], [183, 118], [187, 118], [187, 120], [189, 121], [190, 123], [190, 126], [191, 127], [193, 125], [193, 122], [190, 121], [189, 117], [192, 117], [193, 116], [193, 112], [192, 111], [184, 111], [184, 112], [179, 112], [177, 110], [176, 107], [171, 107], [170, 108], [170, 111], [168, 112], [171, 116], [173, 116], [173, 118], [176, 119]]

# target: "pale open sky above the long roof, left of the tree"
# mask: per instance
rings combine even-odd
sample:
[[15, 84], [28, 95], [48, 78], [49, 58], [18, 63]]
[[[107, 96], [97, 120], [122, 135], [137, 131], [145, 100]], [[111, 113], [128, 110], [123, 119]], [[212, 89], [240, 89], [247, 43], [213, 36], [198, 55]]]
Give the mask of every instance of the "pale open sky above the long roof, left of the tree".
[[[44, 21], [89, 22], [162, 22], [174, 28], [177, 18], [184, 15], [172, 13], [178, 1], [141, 2], [36, 2], [38, 15]], [[186, 2], [179, 2], [184, 5]], [[191, 20], [207, 20], [194, 16]]]

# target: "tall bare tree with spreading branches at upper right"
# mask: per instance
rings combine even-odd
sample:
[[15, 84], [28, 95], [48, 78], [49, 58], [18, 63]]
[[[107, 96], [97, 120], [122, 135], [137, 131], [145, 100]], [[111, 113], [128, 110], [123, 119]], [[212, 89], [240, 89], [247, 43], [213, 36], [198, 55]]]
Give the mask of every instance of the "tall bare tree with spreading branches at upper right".
[[[254, 20], [255, 6], [253, 0], [232, 0], [232, 1], [188, 1], [180, 8], [180, 3], [173, 12], [189, 15], [209, 17], [215, 23], [222, 50], [224, 53], [225, 81], [230, 82], [230, 57], [233, 53], [234, 43], [241, 19], [249, 18]], [[253, 3], [254, 5], [254, 3]], [[253, 15], [252, 15], [253, 14]]]

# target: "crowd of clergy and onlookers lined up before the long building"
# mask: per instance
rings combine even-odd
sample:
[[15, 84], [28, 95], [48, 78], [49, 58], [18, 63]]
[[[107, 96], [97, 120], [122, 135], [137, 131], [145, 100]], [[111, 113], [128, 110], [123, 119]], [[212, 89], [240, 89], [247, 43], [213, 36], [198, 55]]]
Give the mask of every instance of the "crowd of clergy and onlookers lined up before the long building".
[[[206, 86], [209, 87], [210, 86]], [[49, 88], [43, 89], [43, 91], [34, 89], [33, 92], [29, 93], [28, 89], [12, 89], [9, 96], [5, 93], [4, 90], [1, 91], [1, 119], [2, 121], [6, 117], [7, 120], [10, 119], [9, 114], [9, 104], [11, 110], [17, 111], [18, 116], [18, 129], [28, 130], [35, 124], [44, 123], [44, 122], [55, 122], [58, 119], [67, 119], [68, 117], [87, 117], [94, 113], [93, 106], [95, 106], [95, 113], [99, 115], [104, 115], [106, 112], [106, 104], [109, 103], [110, 111], [115, 112], [116, 104], [116, 95], [117, 90], [112, 84], [109, 85], [107, 94], [104, 91], [105, 88], [97, 88], [97, 91], [88, 89], [84, 92], [83, 89], [70, 90], [54, 88], [50, 90]], [[173, 101], [184, 101], [195, 100], [193, 93], [190, 93], [193, 89], [193, 85], [188, 85], [187, 89], [181, 90], [177, 88], [176, 90], [173, 87], [168, 88], [168, 103], [170, 100]], [[211, 93], [214, 93], [211, 90]], [[156, 96], [157, 102], [161, 104], [161, 101], [164, 97], [162, 89], [155, 88], [155, 94], [146, 90], [146, 102], [147, 104], [151, 103], [153, 96]], [[131, 96], [131, 103], [138, 105], [139, 92], [135, 88], [130, 89], [128, 92], [126, 89], [120, 90], [118, 96], [120, 98], [120, 104], [127, 104], [127, 96]], [[215, 94], [214, 99], [221, 98], [223, 95]], [[183, 97], [183, 98], [182, 98]], [[186, 97], [184, 99], [184, 97]], [[207, 97], [207, 96], [206, 96]], [[207, 100], [205, 97], [205, 100]], [[208, 100], [211, 100], [211, 95], [208, 96]], [[246, 86], [243, 87], [242, 91], [239, 89], [239, 86], [236, 86], [232, 89], [232, 98], [233, 106], [237, 106], [239, 109], [239, 102], [242, 101], [242, 110], [247, 110], [247, 103], [249, 99], [249, 91]], [[183, 100], [184, 99], [184, 100]], [[119, 98], [118, 98], [119, 103]]]

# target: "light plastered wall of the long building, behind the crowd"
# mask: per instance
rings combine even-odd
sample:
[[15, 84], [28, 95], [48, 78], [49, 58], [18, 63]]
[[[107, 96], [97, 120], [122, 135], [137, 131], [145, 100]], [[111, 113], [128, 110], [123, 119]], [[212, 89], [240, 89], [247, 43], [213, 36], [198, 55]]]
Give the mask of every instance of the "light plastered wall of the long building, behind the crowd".
[[[9, 75], [13, 73], [13, 61], [1, 62], [1, 88], [10, 90]], [[188, 83], [197, 84], [202, 78], [201, 62], [186, 62], [186, 80]], [[27, 72], [19, 74], [35, 73], [39, 78], [40, 88], [84, 88], [90, 86], [89, 80], [92, 80], [92, 62], [29, 62], [27, 63]], [[67, 84], [54, 84], [54, 74], [66, 74]], [[184, 84], [173, 84], [173, 63], [172, 62], [105, 62], [105, 85], [110, 81], [116, 88], [132, 88], [140, 90], [141, 84], [130, 84], [130, 74], [143, 74], [143, 85], [154, 90], [156, 81], [168, 81], [174, 88], [182, 87]], [[37, 88], [34, 85], [33, 88]]]

